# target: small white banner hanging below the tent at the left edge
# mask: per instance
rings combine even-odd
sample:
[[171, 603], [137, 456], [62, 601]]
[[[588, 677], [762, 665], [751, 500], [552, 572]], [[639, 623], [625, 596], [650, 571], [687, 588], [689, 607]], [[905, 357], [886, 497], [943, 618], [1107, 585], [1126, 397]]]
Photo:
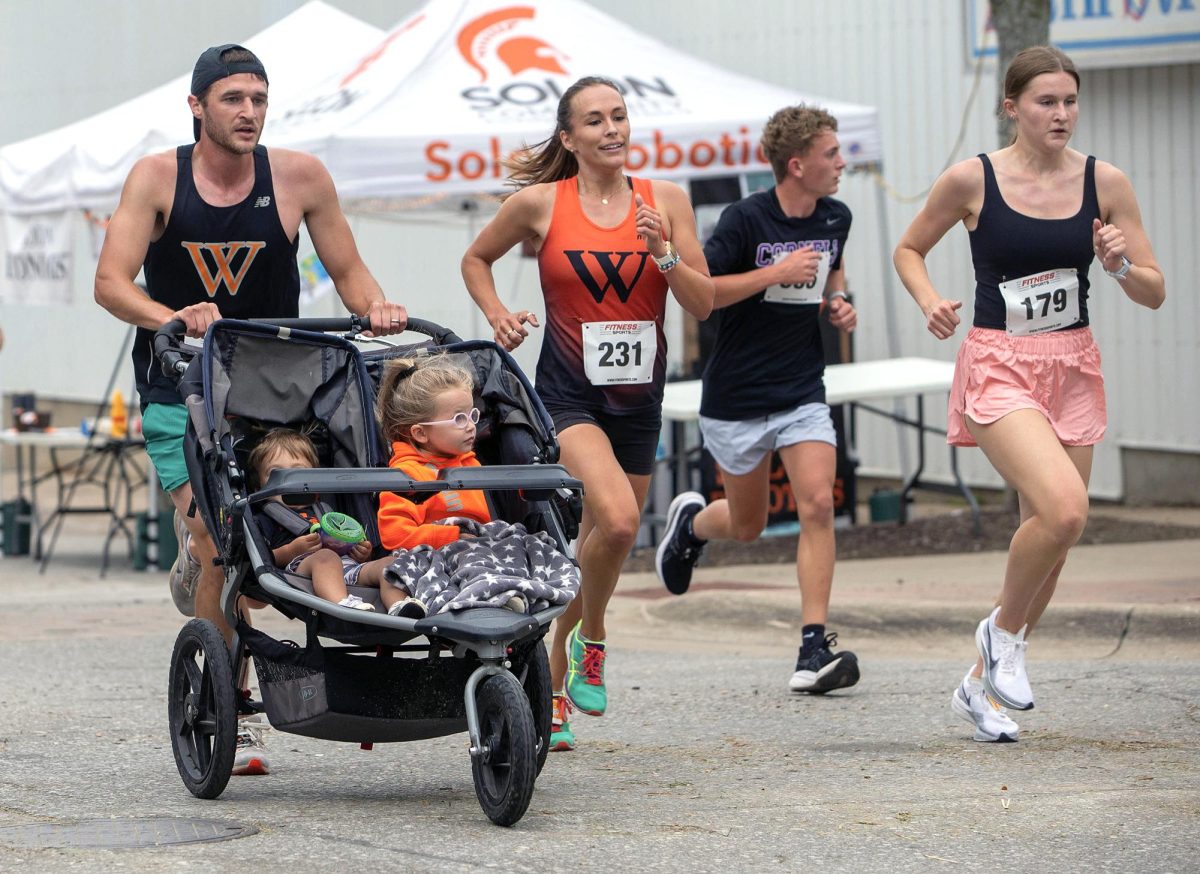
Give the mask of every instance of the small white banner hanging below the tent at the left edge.
[[16, 216], [0, 222], [0, 301], [71, 303], [74, 221], [71, 212]]

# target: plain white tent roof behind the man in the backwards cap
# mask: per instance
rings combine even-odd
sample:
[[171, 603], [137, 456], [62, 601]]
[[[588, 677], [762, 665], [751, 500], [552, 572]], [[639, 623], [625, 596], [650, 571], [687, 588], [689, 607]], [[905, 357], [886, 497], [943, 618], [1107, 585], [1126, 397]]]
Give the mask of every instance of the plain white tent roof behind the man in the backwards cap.
[[[271, 103], [295, 104], [383, 34], [312, 0], [241, 44], [266, 67]], [[112, 211], [138, 158], [192, 140], [190, 86], [191, 71], [97, 115], [0, 149], [0, 211]]]

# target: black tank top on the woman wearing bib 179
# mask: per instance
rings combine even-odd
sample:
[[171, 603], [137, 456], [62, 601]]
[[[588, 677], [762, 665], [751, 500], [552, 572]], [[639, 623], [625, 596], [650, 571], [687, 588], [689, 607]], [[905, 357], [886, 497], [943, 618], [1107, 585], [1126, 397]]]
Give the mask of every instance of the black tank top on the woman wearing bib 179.
[[1086, 328], [1087, 268], [1092, 249], [1092, 220], [1100, 217], [1096, 197], [1096, 158], [1084, 168], [1084, 202], [1069, 218], [1034, 218], [1018, 212], [1000, 193], [996, 172], [986, 155], [983, 161], [983, 208], [970, 233], [971, 261], [976, 271], [974, 327], [1004, 330], [1004, 299], [1000, 283], [1044, 270], [1074, 268], [1079, 277], [1079, 321], [1058, 330]]

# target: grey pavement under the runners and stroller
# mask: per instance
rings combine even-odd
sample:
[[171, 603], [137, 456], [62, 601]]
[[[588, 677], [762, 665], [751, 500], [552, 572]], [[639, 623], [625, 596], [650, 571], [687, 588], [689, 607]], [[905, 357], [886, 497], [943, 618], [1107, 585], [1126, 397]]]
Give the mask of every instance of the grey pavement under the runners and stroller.
[[[576, 716], [512, 828], [475, 800], [466, 735], [268, 735], [272, 773], [193, 798], [167, 730], [184, 618], [162, 571], [65, 538], [0, 559], [0, 870], [1196, 870], [1200, 540], [1079, 547], [1030, 647], [1016, 744], [949, 711], [1003, 553], [842, 562], [830, 629], [863, 680], [793, 695], [794, 568], [625, 575], [610, 712]], [[274, 613], [260, 627], [302, 635]], [[247, 837], [49, 846], [35, 827], [215, 820]]]

